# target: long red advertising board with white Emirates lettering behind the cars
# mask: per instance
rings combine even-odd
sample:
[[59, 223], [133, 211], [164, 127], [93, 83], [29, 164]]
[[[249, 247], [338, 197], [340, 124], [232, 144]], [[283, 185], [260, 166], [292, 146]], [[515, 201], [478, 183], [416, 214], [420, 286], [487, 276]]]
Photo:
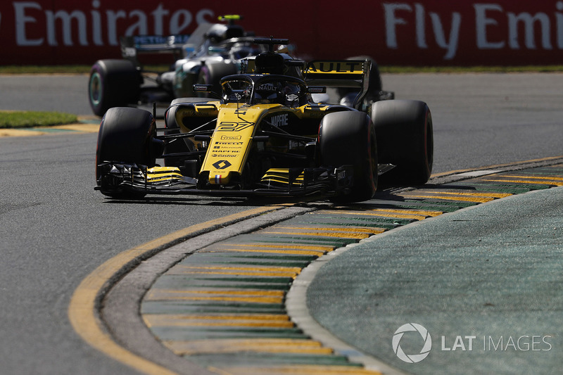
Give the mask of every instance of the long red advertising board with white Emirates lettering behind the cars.
[[189, 34], [241, 14], [257, 35], [289, 38], [302, 58], [369, 55], [385, 65], [563, 61], [563, 1], [5, 0], [0, 65], [119, 58], [119, 37]]

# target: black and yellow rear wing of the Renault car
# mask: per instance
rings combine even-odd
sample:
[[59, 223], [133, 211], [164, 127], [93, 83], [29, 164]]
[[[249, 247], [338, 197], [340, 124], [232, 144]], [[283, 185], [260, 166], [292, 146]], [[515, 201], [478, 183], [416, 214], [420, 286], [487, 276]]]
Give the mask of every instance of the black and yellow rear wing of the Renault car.
[[354, 101], [354, 108], [359, 108], [369, 89], [371, 66], [372, 62], [368, 59], [311, 61], [303, 70], [303, 79], [308, 86], [360, 90]]

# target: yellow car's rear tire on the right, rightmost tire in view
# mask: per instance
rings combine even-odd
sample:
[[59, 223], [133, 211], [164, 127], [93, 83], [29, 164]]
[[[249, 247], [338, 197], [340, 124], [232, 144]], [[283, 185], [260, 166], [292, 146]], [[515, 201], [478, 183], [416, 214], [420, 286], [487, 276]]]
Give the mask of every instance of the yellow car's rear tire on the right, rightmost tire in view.
[[372, 106], [381, 164], [396, 165], [382, 174], [386, 186], [426, 184], [432, 173], [434, 135], [432, 116], [423, 101], [378, 101]]

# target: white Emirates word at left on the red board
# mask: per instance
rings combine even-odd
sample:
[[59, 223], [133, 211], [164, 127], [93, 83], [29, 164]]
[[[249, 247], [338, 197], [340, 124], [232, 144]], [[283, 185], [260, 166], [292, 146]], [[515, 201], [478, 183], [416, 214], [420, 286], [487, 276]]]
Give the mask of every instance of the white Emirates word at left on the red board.
[[[151, 34], [148, 30], [148, 15], [139, 9], [132, 11], [125, 10], [106, 10], [99, 11], [100, 1], [91, 2], [92, 9], [89, 12], [72, 11], [52, 11], [44, 10], [42, 6], [34, 1], [13, 1], [15, 18], [15, 43], [18, 46], [58, 46], [61, 42], [57, 39], [62, 35], [64, 46], [117, 46], [119, 44], [118, 23], [125, 24], [125, 35]], [[32, 14], [34, 12], [34, 15]], [[41, 11], [44, 19], [37, 16], [37, 11]], [[180, 34], [191, 25], [194, 15], [186, 9], [178, 9], [174, 12], [164, 8], [163, 4], [158, 4], [157, 8], [150, 13], [153, 20], [153, 34]], [[209, 22], [206, 18], [215, 18], [210, 9], [201, 9], [196, 13], [196, 23]], [[31, 39], [27, 32], [34, 26], [33, 24], [46, 25], [46, 38]], [[107, 40], [103, 40], [103, 25], [106, 27]], [[61, 29], [58, 29], [61, 27]], [[37, 29], [37, 27], [34, 27]], [[88, 32], [91, 30], [91, 40], [88, 39]], [[72, 37], [77, 37], [73, 40]]]

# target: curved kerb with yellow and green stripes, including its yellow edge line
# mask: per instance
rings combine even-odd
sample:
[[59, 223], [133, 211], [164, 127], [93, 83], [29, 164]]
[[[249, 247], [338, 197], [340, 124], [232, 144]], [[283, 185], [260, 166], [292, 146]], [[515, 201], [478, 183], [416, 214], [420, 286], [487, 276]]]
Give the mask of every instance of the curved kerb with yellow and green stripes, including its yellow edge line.
[[[563, 186], [563, 156], [437, 174], [425, 186], [383, 191], [359, 205], [273, 205], [242, 212], [108, 260], [75, 291], [70, 319], [84, 340], [146, 374], [393, 374], [395, 369], [308, 328], [305, 301], [288, 298], [303, 269], [391, 229], [556, 186]], [[158, 257], [158, 267], [144, 271], [152, 278], [150, 288], [136, 292], [131, 310], [101, 314], [101, 305], [111, 306], [108, 298], [123, 297], [106, 295], [108, 284], [120, 279], [113, 286], [119, 290], [142, 271], [141, 260], [150, 264]], [[130, 287], [138, 282], [132, 276]], [[136, 317], [133, 322], [115, 318], [127, 314]], [[112, 324], [122, 326], [123, 335], [144, 330], [167, 354], [122, 348], [101, 322], [110, 331]]]

